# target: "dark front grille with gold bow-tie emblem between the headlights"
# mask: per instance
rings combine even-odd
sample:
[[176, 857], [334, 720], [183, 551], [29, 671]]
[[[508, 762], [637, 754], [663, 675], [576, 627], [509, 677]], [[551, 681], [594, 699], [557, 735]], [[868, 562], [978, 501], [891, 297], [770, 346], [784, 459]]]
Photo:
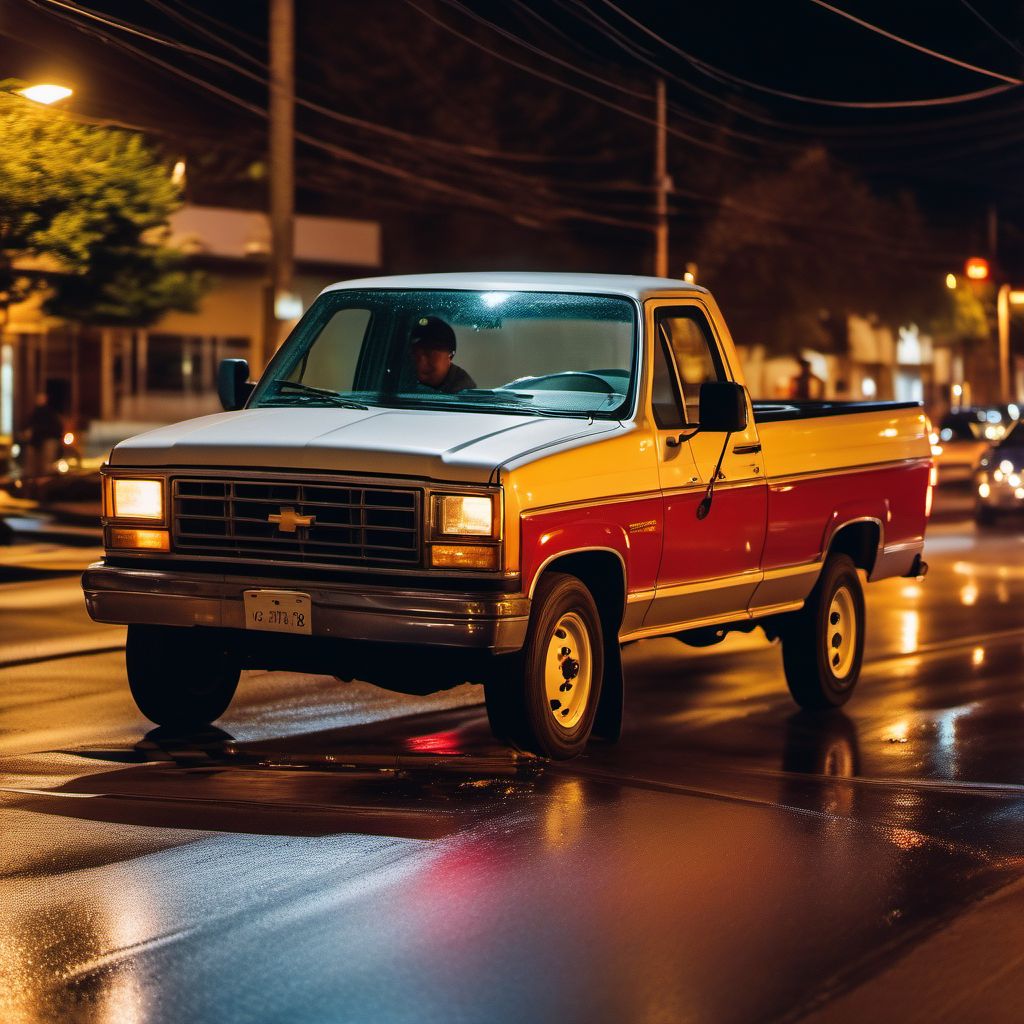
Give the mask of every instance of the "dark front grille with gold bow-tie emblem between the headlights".
[[[332, 565], [418, 565], [420, 492], [362, 483], [178, 478], [175, 552]], [[285, 532], [268, 517], [315, 516]]]

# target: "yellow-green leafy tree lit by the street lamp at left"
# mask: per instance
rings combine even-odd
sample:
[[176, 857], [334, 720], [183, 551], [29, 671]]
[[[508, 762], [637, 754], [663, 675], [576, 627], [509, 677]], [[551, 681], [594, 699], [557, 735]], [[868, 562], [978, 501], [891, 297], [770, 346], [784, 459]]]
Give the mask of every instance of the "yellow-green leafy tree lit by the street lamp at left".
[[[200, 279], [166, 244], [177, 186], [140, 135], [79, 124], [0, 83], [0, 309], [144, 326], [188, 309]], [[31, 272], [16, 263], [29, 261]]]

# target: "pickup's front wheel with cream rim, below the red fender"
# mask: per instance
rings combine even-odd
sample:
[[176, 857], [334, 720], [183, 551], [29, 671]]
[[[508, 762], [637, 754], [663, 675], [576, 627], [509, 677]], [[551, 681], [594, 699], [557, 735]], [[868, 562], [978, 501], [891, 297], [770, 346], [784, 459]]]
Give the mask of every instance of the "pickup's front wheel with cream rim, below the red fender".
[[573, 758], [594, 728], [603, 677], [604, 638], [593, 596], [575, 577], [548, 572], [534, 595], [522, 650], [496, 663], [484, 683], [490, 729], [521, 751]]

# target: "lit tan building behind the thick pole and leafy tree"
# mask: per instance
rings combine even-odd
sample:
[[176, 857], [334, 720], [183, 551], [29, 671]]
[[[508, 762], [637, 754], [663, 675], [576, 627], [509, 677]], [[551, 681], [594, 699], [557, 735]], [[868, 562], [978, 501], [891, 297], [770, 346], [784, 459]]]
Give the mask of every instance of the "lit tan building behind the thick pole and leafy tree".
[[[171, 239], [206, 274], [196, 312], [167, 313], [143, 330], [65, 324], [43, 314], [40, 296], [11, 308], [0, 343], [0, 436], [16, 434], [45, 393], [70, 427], [101, 449], [155, 424], [217, 412], [223, 358], [262, 369], [267, 216], [184, 206], [171, 218]], [[294, 292], [302, 308], [329, 284], [379, 272], [381, 260], [374, 221], [295, 218]]]

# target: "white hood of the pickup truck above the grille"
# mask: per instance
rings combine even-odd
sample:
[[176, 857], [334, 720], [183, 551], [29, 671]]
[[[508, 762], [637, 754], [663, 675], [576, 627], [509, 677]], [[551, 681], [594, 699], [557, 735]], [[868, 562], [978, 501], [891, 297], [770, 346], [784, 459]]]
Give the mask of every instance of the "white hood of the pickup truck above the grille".
[[116, 467], [238, 467], [486, 483], [502, 464], [622, 429], [587, 420], [403, 409], [218, 413], [118, 444]]

